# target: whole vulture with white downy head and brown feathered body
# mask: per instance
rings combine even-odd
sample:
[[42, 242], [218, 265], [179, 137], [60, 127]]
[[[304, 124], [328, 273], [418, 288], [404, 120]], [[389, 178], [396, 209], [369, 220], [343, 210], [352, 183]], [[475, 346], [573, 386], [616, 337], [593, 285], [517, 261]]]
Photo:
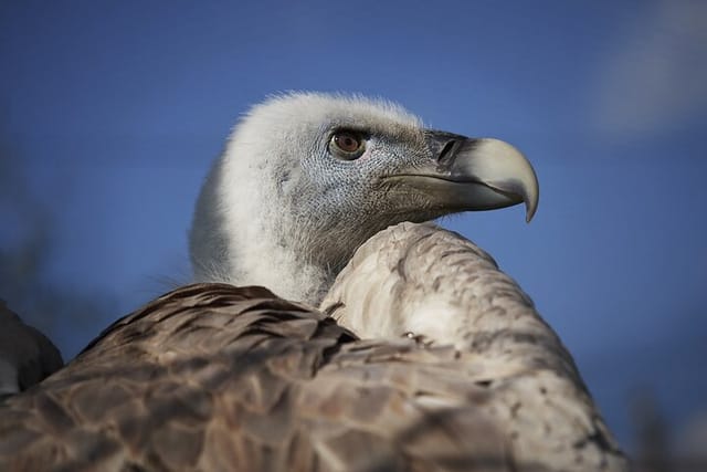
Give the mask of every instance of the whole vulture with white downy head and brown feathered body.
[[194, 283], [0, 403], [0, 470], [627, 470], [530, 298], [430, 223], [521, 202], [537, 178], [509, 144], [270, 98], [207, 177]]

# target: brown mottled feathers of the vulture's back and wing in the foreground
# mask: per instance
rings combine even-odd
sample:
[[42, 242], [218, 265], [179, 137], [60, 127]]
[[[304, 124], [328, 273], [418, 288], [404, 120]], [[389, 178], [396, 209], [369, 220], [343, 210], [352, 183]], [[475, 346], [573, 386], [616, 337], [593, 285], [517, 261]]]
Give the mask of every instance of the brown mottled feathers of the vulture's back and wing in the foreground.
[[[341, 298], [331, 311], [352, 305]], [[264, 289], [190, 285], [115, 323], [66, 368], [0, 406], [0, 470], [623, 468], [599, 417], [572, 423], [574, 410], [593, 411], [578, 378], [538, 361], [496, 381], [479, 353], [358, 339]], [[576, 442], [577, 428], [593, 436]], [[548, 429], [566, 431], [564, 443]], [[524, 449], [546, 437], [547, 448]], [[548, 452], [556, 447], [564, 450]]]

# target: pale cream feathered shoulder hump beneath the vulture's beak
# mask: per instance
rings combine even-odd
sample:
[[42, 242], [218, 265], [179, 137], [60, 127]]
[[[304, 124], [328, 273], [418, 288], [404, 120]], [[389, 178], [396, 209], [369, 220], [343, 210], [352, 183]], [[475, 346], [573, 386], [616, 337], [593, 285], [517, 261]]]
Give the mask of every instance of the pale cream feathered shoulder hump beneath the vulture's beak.
[[321, 308], [361, 337], [409, 333], [441, 356], [430, 379], [449, 373], [453, 386], [414, 395], [483, 416], [518, 470], [627, 468], [557, 334], [461, 235], [413, 223], [381, 231], [357, 251]]

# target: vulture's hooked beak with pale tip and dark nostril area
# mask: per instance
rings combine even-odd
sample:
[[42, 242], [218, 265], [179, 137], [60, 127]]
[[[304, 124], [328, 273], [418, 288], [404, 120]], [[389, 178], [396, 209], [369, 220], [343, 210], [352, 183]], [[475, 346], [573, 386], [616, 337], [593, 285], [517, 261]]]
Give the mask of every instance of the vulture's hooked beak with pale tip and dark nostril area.
[[451, 211], [493, 210], [525, 202], [526, 221], [538, 208], [540, 190], [530, 162], [514, 146], [492, 138], [467, 138], [425, 130], [431, 159], [395, 178], [430, 195]]

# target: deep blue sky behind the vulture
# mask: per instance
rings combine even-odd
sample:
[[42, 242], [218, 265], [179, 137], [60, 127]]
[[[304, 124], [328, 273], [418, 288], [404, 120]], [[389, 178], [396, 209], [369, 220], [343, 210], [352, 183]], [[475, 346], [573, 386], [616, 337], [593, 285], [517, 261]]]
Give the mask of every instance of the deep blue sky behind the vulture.
[[[699, 1], [3, 2], [0, 158], [52, 221], [42, 277], [112, 301], [53, 337], [73, 357], [189, 280], [199, 186], [250, 105], [359, 92], [526, 153], [531, 224], [443, 223], [532, 296], [624, 442], [636, 388], [679, 428], [707, 408], [706, 44]], [[11, 251], [32, 220], [7, 201]]]

